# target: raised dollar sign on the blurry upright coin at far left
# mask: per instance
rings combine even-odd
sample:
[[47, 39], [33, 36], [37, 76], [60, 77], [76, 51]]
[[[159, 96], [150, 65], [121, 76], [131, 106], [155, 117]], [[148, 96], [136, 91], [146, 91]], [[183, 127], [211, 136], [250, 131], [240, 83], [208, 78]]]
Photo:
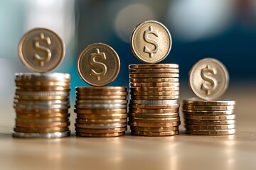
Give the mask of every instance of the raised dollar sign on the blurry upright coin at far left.
[[50, 45], [50, 38], [46, 37], [43, 35], [43, 33], [40, 34], [40, 38], [35, 38], [35, 49], [45, 53], [45, 57], [41, 57], [38, 54], [35, 54], [34, 57], [36, 60], [38, 60], [39, 64], [41, 67], [43, 67], [44, 62], [48, 62], [51, 57], [51, 52], [48, 49], [48, 47], [44, 47], [40, 45], [39, 42], [45, 42], [47, 45]]

